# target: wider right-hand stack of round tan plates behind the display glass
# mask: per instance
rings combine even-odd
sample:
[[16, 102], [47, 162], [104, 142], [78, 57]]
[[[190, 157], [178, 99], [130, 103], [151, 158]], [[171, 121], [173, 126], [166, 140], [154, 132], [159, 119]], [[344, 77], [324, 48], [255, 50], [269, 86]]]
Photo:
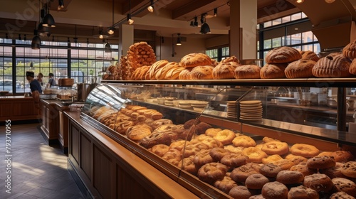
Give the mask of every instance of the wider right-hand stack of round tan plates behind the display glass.
[[247, 100], [240, 102], [240, 119], [246, 121], [258, 122], [262, 120], [262, 102], [261, 100]]

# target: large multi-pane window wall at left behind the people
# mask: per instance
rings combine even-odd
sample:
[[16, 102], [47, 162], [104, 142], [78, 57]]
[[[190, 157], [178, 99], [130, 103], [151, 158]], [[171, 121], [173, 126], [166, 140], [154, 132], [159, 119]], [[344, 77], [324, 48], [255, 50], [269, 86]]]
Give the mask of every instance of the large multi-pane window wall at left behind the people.
[[103, 43], [70, 43], [68, 48], [67, 42], [42, 41], [41, 49], [33, 50], [31, 41], [0, 38], [0, 90], [30, 92], [27, 70], [35, 72], [35, 76], [41, 72], [45, 85], [49, 72], [57, 82], [66, 77], [73, 77], [75, 82], [91, 82], [118, 59], [118, 45], [111, 48], [112, 53], [105, 53]]

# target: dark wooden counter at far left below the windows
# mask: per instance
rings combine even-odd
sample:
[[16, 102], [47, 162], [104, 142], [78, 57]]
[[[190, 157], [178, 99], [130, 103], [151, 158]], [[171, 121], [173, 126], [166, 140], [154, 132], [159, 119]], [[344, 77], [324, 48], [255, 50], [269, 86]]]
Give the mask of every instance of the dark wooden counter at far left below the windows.
[[41, 114], [35, 106], [32, 97], [1, 96], [0, 97], [0, 122], [41, 119]]

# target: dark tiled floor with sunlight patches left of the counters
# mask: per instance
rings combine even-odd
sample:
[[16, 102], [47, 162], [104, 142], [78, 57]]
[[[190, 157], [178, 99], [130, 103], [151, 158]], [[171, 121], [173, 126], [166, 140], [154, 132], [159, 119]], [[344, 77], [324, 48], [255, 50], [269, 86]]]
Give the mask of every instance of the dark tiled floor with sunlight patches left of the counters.
[[[48, 146], [39, 124], [11, 126], [11, 193], [6, 193], [5, 126], [0, 126], [0, 198], [84, 198], [67, 170], [67, 156]], [[7, 139], [9, 140], [9, 139]], [[9, 170], [8, 170], [9, 171]]]

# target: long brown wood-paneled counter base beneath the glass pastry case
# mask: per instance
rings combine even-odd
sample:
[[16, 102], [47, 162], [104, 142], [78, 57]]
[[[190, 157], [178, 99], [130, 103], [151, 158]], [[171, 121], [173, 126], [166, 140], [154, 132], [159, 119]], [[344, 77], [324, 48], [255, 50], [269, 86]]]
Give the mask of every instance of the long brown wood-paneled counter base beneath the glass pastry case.
[[[87, 122], [69, 118], [68, 170], [93, 198], [199, 198]], [[78, 178], [76, 180], [78, 180]], [[82, 190], [83, 191], [83, 190]]]

